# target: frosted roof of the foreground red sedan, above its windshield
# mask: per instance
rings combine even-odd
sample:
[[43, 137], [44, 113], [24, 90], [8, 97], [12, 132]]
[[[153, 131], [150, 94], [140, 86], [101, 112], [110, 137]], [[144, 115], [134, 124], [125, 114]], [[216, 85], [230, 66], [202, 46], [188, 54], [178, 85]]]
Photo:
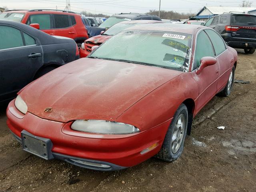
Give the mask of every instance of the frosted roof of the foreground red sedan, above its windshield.
[[136, 25], [125, 30], [148, 30], [148, 31], [165, 31], [165, 32], [180, 32], [193, 34], [198, 28], [208, 28], [200, 25], [186, 25], [186, 24], [173, 24], [173, 23], [156, 23], [147, 25]]

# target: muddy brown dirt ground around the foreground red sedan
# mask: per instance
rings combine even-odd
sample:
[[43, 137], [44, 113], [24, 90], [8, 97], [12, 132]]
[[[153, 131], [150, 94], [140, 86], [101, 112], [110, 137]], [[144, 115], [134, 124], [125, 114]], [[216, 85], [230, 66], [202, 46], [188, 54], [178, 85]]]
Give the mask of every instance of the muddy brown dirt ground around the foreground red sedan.
[[[116, 172], [43, 160], [21, 149], [0, 108], [0, 192], [255, 192], [256, 53], [238, 51], [232, 94], [215, 96], [196, 116], [181, 157], [171, 163], [150, 158]], [[218, 130], [218, 126], [225, 126]]]

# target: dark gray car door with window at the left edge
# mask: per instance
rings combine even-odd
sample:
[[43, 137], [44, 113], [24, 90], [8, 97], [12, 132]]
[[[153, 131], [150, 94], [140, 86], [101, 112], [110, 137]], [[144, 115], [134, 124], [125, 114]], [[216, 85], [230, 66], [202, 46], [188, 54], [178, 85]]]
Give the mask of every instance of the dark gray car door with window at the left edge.
[[42, 47], [30, 34], [10, 25], [0, 25], [0, 101], [16, 93], [33, 80], [42, 66]]

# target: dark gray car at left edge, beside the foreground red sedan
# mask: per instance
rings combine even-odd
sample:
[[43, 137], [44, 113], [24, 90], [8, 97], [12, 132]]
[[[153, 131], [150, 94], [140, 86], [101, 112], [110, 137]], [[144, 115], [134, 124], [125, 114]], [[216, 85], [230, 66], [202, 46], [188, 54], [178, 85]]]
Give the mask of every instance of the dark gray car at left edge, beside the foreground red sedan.
[[73, 39], [0, 20], [0, 103], [47, 72], [79, 58]]

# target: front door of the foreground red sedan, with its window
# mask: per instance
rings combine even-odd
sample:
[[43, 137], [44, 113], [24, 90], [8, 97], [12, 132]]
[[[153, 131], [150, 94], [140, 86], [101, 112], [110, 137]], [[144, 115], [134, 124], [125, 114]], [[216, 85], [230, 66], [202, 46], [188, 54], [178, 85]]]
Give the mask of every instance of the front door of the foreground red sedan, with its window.
[[217, 92], [217, 82], [219, 78], [218, 63], [207, 66], [200, 74], [196, 70], [200, 66], [202, 57], [215, 57], [212, 43], [204, 30], [201, 30], [196, 38], [196, 49], [192, 65], [192, 76], [198, 86], [198, 98], [196, 98], [196, 113], [212, 98]]

